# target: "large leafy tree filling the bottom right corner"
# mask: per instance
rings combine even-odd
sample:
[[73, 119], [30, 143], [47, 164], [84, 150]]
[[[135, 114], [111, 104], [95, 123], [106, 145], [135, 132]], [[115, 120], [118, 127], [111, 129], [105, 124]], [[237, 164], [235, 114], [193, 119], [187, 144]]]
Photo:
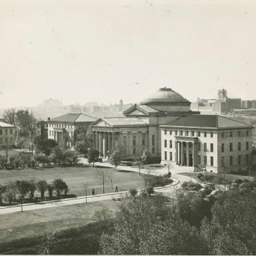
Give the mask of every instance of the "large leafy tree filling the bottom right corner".
[[255, 195], [254, 190], [234, 189], [217, 199], [212, 207], [212, 219], [204, 219], [201, 227], [209, 254], [256, 254]]

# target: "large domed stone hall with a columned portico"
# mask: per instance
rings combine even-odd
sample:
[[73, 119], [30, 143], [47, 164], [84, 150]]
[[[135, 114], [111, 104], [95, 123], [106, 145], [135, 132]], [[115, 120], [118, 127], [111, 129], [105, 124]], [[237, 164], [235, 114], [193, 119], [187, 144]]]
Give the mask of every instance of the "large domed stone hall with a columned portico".
[[123, 159], [135, 159], [148, 149], [161, 157], [161, 128], [179, 117], [199, 112], [190, 110], [187, 99], [164, 87], [123, 112], [125, 117], [105, 117], [93, 124], [93, 147], [102, 155], [115, 145], [123, 146]]

